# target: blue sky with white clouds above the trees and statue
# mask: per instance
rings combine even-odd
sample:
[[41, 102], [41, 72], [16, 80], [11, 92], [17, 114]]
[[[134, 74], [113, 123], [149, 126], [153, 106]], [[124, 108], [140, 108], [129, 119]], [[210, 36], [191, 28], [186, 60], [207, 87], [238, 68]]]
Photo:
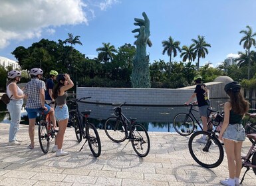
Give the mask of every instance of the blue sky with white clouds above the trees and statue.
[[[58, 42], [68, 33], [80, 36], [82, 46], [74, 48], [89, 58], [96, 48], [110, 43], [116, 48], [134, 44], [134, 18], [150, 19], [147, 47], [150, 62], [170, 57], [162, 54], [162, 41], [171, 36], [180, 47], [204, 36], [211, 45], [200, 65], [214, 67], [229, 56], [244, 51], [239, 41], [249, 25], [256, 32], [255, 0], [1, 0], [0, 56], [16, 60], [11, 54], [18, 46], [28, 48], [41, 39]], [[180, 61], [180, 53], [172, 60]], [[195, 64], [195, 62], [193, 62]]]

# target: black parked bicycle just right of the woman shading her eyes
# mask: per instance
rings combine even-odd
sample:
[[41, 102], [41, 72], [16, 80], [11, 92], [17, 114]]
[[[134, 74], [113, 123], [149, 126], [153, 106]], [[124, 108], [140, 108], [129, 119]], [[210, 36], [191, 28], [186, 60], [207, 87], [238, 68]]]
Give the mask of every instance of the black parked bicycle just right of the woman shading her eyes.
[[[88, 116], [92, 111], [84, 110], [83, 112], [80, 112], [78, 110], [78, 102], [80, 102], [80, 100], [86, 100], [88, 98], [91, 97], [68, 100], [68, 102], [75, 104], [75, 109], [69, 110], [68, 120], [72, 123], [72, 126], [74, 126], [74, 132], [76, 134], [76, 139], [78, 140], [78, 142], [82, 141], [82, 138], [86, 139], [84, 144], [88, 141], [90, 151], [92, 151], [94, 157], [99, 157], [101, 153], [100, 136], [98, 135], [96, 127], [92, 123], [88, 122]], [[84, 144], [82, 145], [79, 151], [82, 150]]]

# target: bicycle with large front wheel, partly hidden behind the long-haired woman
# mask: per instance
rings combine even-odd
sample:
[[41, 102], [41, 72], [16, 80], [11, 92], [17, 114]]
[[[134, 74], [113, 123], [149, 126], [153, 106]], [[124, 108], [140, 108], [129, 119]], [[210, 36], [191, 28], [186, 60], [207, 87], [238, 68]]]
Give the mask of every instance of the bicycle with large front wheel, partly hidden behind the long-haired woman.
[[[251, 118], [255, 118], [256, 114], [249, 114], [249, 118], [245, 125], [245, 133], [256, 134], [256, 123], [251, 123]], [[223, 122], [223, 120], [221, 121]], [[221, 125], [221, 122], [216, 122], [216, 124]], [[190, 140], [188, 141], [188, 148], [190, 154], [192, 155], [195, 162], [205, 168], [214, 168], [221, 164], [224, 158], [224, 150], [221, 142], [218, 139], [217, 134], [219, 130], [215, 128], [211, 132], [198, 131], [192, 134]], [[205, 143], [199, 141], [203, 136], [205, 136]], [[253, 143], [254, 141], [249, 138]]]

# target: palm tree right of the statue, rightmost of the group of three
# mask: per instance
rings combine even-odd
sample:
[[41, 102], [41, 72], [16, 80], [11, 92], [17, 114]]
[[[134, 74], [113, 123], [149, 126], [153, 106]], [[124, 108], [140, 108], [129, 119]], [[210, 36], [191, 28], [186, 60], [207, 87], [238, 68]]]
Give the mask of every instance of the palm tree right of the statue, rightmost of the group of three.
[[196, 39], [192, 39], [195, 44], [195, 54], [197, 54], [197, 71], [199, 71], [199, 59], [205, 58], [205, 53], [208, 54], [208, 50], [206, 47], [211, 47], [209, 43], [206, 43], [204, 40], [204, 36], [199, 36]]

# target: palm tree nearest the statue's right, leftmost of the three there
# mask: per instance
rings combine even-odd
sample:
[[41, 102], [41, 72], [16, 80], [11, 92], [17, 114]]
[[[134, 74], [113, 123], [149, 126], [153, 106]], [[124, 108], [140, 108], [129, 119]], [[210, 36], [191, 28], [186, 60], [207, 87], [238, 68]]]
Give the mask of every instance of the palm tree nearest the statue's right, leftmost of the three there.
[[180, 41], [174, 41], [174, 39], [172, 39], [172, 37], [169, 37], [168, 41], [163, 41], [162, 45], [164, 47], [162, 54], [164, 55], [165, 52], [167, 52], [168, 56], [170, 56], [169, 72], [168, 72], [168, 77], [170, 78], [171, 64], [172, 64], [172, 52], [174, 52], [174, 57], [176, 57], [177, 50], [179, 52], [182, 52], [182, 49], [180, 48]]

